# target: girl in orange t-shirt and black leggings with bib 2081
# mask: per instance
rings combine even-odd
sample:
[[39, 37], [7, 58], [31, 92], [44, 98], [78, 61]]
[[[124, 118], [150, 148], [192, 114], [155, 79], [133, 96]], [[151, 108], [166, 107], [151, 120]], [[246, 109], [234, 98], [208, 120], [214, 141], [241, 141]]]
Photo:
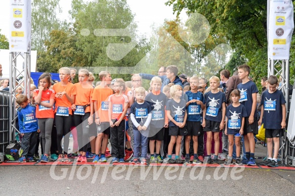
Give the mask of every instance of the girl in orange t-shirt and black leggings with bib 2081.
[[[59, 69], [60, 82], [53, 85], [55, 94], [55, 124], [57, 131], [57, 148], [58, 148], [58, 161], [70, 162], [67, 156], [69, 147], [69, 132], [72, 123], [72, 110], [71, 106], [75, 101], [76, 87], [70, 83], [70, 69], [62, 67]], [[64, 136], [64, 154], [62, 152], [61, 140]]]

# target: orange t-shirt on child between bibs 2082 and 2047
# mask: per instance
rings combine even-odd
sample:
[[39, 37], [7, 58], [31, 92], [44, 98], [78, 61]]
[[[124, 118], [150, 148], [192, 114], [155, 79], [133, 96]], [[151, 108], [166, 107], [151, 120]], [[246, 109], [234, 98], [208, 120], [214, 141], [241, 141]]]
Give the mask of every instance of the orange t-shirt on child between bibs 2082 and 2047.
[[109, 122], [108, 97], [112, 94], [113, 94], [113, 90], [109, 87], [103, 88], [101, 85], [98, 85], [97, 87], [93, 89], [92, 101], [97, 101], [97, 109], [98, 109], [100, 122]]

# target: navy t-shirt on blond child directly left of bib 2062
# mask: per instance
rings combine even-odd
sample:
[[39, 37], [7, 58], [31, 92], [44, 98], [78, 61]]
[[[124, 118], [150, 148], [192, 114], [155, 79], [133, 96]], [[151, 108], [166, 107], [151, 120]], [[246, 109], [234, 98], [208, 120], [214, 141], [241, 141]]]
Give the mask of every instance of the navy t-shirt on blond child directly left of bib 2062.
[[204, 94], [206, 114], [205, 119], [215, 122], [222, 120], [222, 104], [225, 103], [225, 94], [221, 91], [212, 93], [211, 91]]

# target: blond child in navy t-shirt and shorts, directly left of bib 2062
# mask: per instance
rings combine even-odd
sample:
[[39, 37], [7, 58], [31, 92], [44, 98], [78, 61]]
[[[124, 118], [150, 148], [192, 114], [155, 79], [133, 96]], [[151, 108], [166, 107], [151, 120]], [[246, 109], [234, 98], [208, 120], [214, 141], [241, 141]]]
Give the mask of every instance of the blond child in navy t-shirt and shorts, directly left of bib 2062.
[[[225, 94], [218, 90], [220, 80], [217, 76], [212, 76], [209, 79], [210, 91], [206, 92], [205, 97], [205, 109], [203, 111], [203, 123], [204, 131], [207, 133], [206, 140], [206, 152], [207, 160], [204, 163], [218, 164], [218, 153], [220, 148], [219, 133], [224, 127], [225, 118]], [[214, 137], [214, 159], [211, 158], [211, 142]]]

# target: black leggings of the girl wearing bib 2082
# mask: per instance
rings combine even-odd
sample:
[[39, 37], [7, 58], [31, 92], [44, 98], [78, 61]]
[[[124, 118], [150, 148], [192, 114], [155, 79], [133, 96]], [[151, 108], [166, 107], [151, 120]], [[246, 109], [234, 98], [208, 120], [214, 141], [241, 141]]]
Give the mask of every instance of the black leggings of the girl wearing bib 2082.
[[90, 112], [85, 113], [85, 115], [73, 115], [75, 127], [77, 129], [79, 152], [87, 152], [87, 144], [89, 142], [89, 116]]

